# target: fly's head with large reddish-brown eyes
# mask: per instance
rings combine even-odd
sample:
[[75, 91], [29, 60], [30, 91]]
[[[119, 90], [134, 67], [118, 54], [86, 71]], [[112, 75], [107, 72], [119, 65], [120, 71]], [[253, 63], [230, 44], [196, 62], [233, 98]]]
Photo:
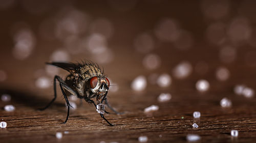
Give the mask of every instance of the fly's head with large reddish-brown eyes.
[[96, 94], [96, 99], [99, 100], [109, 90], [110, 81], [104, 76], [94, 76], [90, 79], [91, 91]]

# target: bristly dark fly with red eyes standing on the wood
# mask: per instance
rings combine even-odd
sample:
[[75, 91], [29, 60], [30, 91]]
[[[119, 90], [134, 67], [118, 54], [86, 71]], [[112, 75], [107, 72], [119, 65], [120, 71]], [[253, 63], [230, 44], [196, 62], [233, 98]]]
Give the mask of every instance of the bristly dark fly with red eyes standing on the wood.
[[[40, 110], [45, 110], [55, 101], [57, 97], [56, 80], [58, 80], [60, 90], [68, 106], [67, 118], [65, 122], [63, 122], [63, 124], [67, 123], [69, 119], [69, 110], [71, 107], [67, 96], [74, 95], [77, 98], [84, 99], [88, 103], [94, 104], [101, 118], [103, 118], [110, 126], [113, 126], [103, 116], [103, 113], [109, 113], [109, 112], [107, 112], [105, 108], [101, 106], [103, 105], [103, 103], [105, 103], [116, 114], [119, 114], [119, 112], [113, 109], [108, 103], [106, 95], [108, 95], [110, 81], [108, 78], [105, 77], [104, 72], [100, 69], [100, 67], [97, 64], [89, 61], [78, 63], [78, 64], [58, 63], [58, 62], [52, 62], [52, 63], [46, 63], [46, 64], [65, 69], [70, 74], [66, 77], [65, 80], [60, 78], [58, 75], [54, 76], [54, 86], [53, 86], [54, 98], [46, 107]], [[95, 99], [95, 101], [93, 99]]]

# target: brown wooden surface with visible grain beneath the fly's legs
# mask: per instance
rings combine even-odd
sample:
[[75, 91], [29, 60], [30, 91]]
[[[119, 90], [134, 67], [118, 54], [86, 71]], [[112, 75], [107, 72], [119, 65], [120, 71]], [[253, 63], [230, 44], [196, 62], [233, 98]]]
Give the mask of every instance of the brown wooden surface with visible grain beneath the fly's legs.
[[[160, 92], [149, 90], [134, 94], [127, 89], [110, 94], [111, 104], [125, 112], [124, 115], [105, 115], [114, 127], [106, 124], [87, 103], [72, 110], [68, 123], [61, 124], [66, 118], [66, 109], [65, 104], [57, 103], [63, 100], [45, 111], [38, 111], [36, 108], [47, 104], [50, 96], [48, 100], [27, 93], [10, 93], [16, 110], [1, 110], [2, 120], [8, 124], [0, 130], [1, 139], [4, 142], [138, 142], [139, 136], [146, 135], [148, 142], [186, 142], [187, 134], [199, 134], [201, 142], [253, 142], [256, 138], [254, 99], [231, 92], [201, 95], [195, 90], [186, 90], [171, 92], [170, 101], [159, 103], [156, 99]], [[231, 108], [221, 108], [219, 101], [223, 95], [231, 98]], [[7, 103], [1, 102], [4, 104]], [[143, 109], [152, 104], [159, 105], [159, 110], [144, 113]], [[193, 118], [194, 111], [201, 112], [200, 119]], [[199, 128], [193, 128], [194, 123]], [[230, 136], [232, 129], [239, 131], [239, 137]], [[62, 139], [55, 137], [56, 132], [64, 131], [69, 134], [63, 134]]]

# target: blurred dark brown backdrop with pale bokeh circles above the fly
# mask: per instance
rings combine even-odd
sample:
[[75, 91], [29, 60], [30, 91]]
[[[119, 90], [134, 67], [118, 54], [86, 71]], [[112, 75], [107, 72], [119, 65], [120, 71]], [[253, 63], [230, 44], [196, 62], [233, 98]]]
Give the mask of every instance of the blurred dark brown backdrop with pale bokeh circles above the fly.
[[[193, 74], [201, 78], [212, 76], [218, 66], [245, 66], [240, 72], [230, 70], [244, 79], [255, 66], [253, 5], [253, 1], [3, 1], [1, 69], [7, 75], [3, 84], [30, 89], [45, 62], [84, 59], [97, 62], [120, 81], [170, 72], [181, 61], [194, 68], [203, 62], [208, 70]], [[160, 57], [159, 66], [145, 71], [142, 61], [151, 53]]]

